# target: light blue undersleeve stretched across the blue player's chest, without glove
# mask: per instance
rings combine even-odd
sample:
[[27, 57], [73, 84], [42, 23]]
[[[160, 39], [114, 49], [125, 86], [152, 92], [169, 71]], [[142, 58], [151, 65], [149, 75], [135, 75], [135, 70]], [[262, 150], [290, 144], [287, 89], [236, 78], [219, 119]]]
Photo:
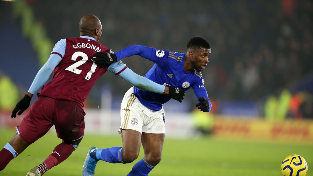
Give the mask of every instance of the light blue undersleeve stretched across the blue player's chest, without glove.
[[118, 74], [118, 76], [124, 79], [125, 81], [131, 83], [131, 85], [141, 90], [154, 92], [154, 93], [160, 93], [160, 94], [162, 94], [165, 90], [164, 85], [155, 83], [148, 78], [140, 76], [129, 68], [126, 68], [124, 71]]

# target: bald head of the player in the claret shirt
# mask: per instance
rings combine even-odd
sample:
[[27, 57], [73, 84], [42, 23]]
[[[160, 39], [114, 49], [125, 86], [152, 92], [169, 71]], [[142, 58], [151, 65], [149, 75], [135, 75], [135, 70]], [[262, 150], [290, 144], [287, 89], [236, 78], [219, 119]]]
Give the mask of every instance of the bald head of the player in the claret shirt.
[[80, 19], [79, 32], [81, 36], [90, 36], [99, 41], [102, 25], [95, 15], [85, 15]]

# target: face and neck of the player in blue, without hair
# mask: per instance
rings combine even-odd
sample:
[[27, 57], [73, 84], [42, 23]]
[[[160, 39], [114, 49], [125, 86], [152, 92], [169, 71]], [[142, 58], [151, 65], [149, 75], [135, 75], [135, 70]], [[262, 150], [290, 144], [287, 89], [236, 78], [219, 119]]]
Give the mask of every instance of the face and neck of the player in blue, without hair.
[[186, 72], [192, 70], [202, 71], [209, 62], [210, 54], [210, 48], [188, 48], [185, 53], [184, 70]]

